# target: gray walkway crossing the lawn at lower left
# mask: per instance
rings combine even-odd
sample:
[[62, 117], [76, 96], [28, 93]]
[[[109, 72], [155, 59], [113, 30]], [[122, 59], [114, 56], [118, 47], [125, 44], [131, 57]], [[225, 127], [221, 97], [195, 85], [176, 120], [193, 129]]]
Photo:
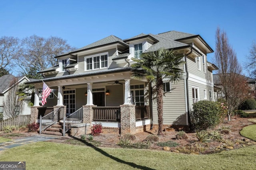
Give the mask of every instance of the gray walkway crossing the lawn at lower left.
[[39, 141], [49, 141], [51, 139], [58, 139], [58, 137], [34, 135], [34, 136], [22, 137], [20, 139], [12, 139], [12, 141], [0, 143], [0, 151], [8, 148], [13, 148], [21, 145], [39, 142]]

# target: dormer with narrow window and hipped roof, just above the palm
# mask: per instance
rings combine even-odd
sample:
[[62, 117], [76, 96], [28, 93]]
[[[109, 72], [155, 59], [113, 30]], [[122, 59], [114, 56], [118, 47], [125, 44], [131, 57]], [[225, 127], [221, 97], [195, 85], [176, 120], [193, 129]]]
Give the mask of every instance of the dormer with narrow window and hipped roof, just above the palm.
[[125, 39], [124, 42], [129, 44], [130, 57], [140, 58], [140, 55], [158, 40], [150, 34], [141, 33], [130, 39]]

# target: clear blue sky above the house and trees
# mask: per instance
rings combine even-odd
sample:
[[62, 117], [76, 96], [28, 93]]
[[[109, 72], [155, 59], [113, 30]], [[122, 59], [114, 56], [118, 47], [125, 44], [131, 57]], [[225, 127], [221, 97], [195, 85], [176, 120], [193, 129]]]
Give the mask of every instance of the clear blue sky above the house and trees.
[[109, 35], [176, 30], [200, 34], [215, 49], [219, 26], [243, 65], [256, 41], [255, 7], [255, 0], [8, 0], [0, 2], [0, 37], [58, 36], [80, 48]]

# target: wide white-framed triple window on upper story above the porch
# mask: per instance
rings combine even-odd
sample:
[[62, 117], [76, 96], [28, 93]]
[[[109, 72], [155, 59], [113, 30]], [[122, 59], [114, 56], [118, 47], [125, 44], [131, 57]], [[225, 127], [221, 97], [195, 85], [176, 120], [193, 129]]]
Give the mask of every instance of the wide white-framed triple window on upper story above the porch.
[[108, 53], [91, 55], [84, 57], [84, 70], [94, 70], [108, 67]]

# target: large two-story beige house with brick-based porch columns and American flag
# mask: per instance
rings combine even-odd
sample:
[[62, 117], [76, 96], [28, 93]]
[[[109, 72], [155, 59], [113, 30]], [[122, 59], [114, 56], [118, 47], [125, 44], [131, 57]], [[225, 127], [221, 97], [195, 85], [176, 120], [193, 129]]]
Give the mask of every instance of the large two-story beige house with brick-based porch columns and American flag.
[[[39, 72], [45, 77], [43, 81], [58, 96], [51, 94], [44, 110], [48, 107], [58, 110], [64, 106], [66, 109], [59, 110], [60, 119], [76, 115], [77, 119], [80, 117], [79, 123], [92, 125], [101, 122], [105, 132], [136, 133], [157, 126], [156, 101], [152, 93], [154, 84], [132, 78], [134, 70], [130, 65], [133, 57], [139, 58], [141, 53], [160, 48], [172, 49], [183, 55], [186, 61], [181, 66], [184, 80], [164, 82], [164, 126], [189, 127], [192, 104], [199, 100], [214, 100], [212, 70], [218, 68], [207, 61], [207, 54], [213, 50], [200, 35], [178, 31], [141, 33], [128, 39], [110, 35], [57, 56], [58, 65]], [[28, 84], [34, 84], [36, 89], [42, 88], [42, 80]], [[39, 122], [39, 115], [44, 113], [38, 114], [38, 109], [42, 109], [38, 90], [35, 99], [32, 121]], [[48, 113], [55, 114], [49, 110]], [[49, 119], [42, 117], [41, 124], [47, 121]]]

